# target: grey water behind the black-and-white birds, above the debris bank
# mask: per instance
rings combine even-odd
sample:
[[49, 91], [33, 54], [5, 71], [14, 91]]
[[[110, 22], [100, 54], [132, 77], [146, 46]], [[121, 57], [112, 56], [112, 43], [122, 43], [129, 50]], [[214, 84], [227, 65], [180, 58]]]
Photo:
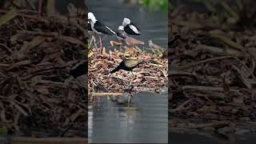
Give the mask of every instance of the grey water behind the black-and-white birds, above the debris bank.
[[[86, 4], [98, 21], [112, 30], [118, 30], [118, 26], [122, 25], [123, 18], [128, 17], [142, 33], [140, 36], [130, 35], [131, 37], [142, 40], [146, 43], [146, 47], [149, 47], [148, 40], [152, 40], [159, 46], [167, 47], [168, 17], [166, 13], [151, 13], [141, 6], [124, 4], [121, 0], [86, 0]], [[98, 39], [98, 37], [96, 38]], [[110, 47], [110, 40], [117, 41], [117, 38], [106, 36], [102, 45]]]

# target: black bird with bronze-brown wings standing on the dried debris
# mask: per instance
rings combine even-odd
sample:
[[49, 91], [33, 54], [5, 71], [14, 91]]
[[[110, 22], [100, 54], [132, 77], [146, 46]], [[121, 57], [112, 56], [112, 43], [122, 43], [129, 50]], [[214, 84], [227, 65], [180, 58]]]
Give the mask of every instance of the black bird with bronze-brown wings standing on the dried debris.
[[141, 59], [125, 59], [120, 64], [118, 67], [116, 67], [114, 70], [110, 71], [110, 74], [113, 74], [117, 72], [118, 70], [126, 70], [126, 71], [131, 71], [133, 70], [136, 66], [141, 64], [143, 61]]

